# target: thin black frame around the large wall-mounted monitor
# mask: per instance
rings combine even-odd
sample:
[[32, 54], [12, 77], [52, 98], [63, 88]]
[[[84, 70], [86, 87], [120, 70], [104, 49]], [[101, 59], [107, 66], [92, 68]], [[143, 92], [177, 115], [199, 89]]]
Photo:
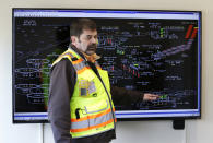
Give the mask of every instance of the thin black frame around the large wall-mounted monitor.
[[[175, 119], [201, 119], [201, 97], [202, 97], [202, 12], [201, 11], [181, 11], [181, 10], [138, 10], [138, 9], [57, 9], [57, 8], [12, 8], [12, 121], [13, 123], [47, 123], [49, 122], [48, 120], [14, 120], [14, 104], [15, 104], [15, 78], [14, 78], [14, 48], [15, 48], [15, 35], [14, 35], [14, 31], [15, 31], [15, 24], [14, 24], [14, 11], [15, 10], [85, 10], [85, 11], [140, 11], [140, 12], [186, 12], [186, 13], [190, 13], [190, 12], [196, 12], [199, 13], [199, 41], [198, 41], [198, 48], [199, 48], [199, 52], [198, 52], [198, 82], [200, 83], [198, 86], [198, 94], [200, 95], [199, 97], [199, 103], [200, 106], [198, 108], [200, 116], [182, 116], [182, 117], [147, 117], [147, 118], [118, 118], [118, 121], [139, 121], [139, 120], [175, 120]], [[199, 96], [198, 95], [198, 96]]]

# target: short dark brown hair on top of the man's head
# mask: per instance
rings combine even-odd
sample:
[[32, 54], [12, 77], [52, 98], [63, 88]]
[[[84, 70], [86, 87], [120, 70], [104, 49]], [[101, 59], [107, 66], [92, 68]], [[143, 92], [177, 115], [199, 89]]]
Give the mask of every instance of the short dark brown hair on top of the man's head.
[[76, 19], [72, 21], [70, 25], [70, 36], [80, 37], [80, 35], [83, 33], [83, 29], [95, 31], [96, 23], [91, 19], [85, 19], [85, 17]]

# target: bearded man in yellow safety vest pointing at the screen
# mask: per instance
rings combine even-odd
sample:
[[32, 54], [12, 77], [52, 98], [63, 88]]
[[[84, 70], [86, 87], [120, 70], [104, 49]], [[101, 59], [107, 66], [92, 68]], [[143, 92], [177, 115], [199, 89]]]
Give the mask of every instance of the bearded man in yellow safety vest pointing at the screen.
[[52, 63], [50, 74], [48, 116], [55, 142], [109, 143], [116, 139], [113, 100], [129, 104], [158, 95], [110, 87], [107, 72], [96, 61], [97, 31], [92, 20], [74, 21], [70, 35], [71, 45]]

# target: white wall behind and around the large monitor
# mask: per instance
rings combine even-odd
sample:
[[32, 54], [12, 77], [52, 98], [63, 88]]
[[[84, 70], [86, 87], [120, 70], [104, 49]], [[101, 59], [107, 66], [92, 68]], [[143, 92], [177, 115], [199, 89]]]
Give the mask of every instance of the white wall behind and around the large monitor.
[[[201, 10], [203, 12], [202, 119], [187, 120], [185, 130], [171, 121], [119, 122], [113, 143], [213, 142], [213, 2], [212, 0], [0, 0], [0, 143], [42, 143], [40, 124], [12, 124], [12, 9], [96, 8], [147, 10]], [[45, 124], [45, 143], [52, 143]]]

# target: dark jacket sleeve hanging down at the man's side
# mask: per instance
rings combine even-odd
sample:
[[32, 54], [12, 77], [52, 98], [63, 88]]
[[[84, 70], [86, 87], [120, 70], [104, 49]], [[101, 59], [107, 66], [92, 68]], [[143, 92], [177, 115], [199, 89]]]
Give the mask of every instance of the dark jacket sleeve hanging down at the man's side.
[[62, 59], [51, 69], [48, 100], [48, 118], [56, 143], [71, 143], [70, 98], [76, 73], [68, 59]]

